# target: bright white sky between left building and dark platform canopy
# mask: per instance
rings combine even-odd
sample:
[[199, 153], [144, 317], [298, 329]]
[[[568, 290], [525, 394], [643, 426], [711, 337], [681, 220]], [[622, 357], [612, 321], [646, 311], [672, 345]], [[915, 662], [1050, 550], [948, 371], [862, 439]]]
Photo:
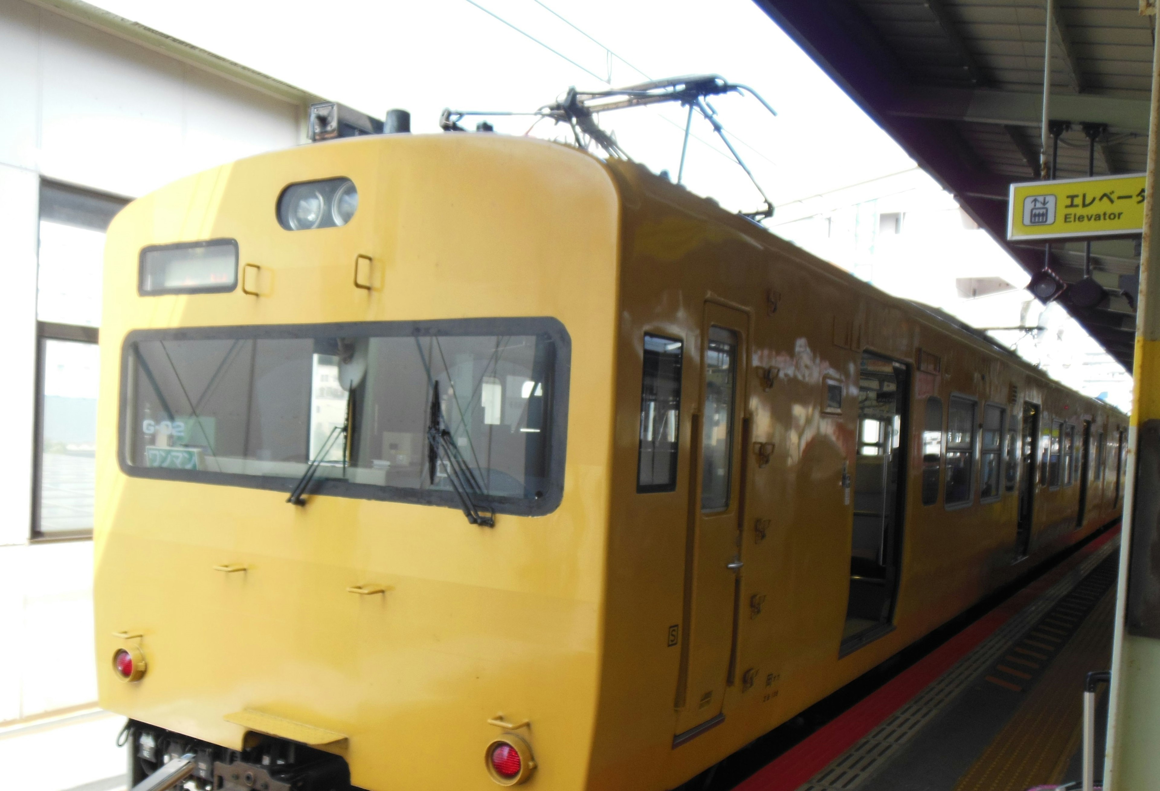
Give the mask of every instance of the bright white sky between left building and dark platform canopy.
[[[95, 5], [368, 115], [407, 109], [415, 132], [437, 131], [447, 107], [531, 111], [570, 86], [722, 74], [752, 86], [777, 110], [771, 117], [735, 95], [713, 101], [775, 205], [914, 165], [751, 0]], [[682, 108], [608, 116], [602, 125], [633, 159], [675, 175]], [[515, 133], [530, 125], [527, 118], [493, 121]], [[564, 132], [550, 122], [534, 131], [549, 138]], [[728, 209], [759, 208], [760, 196], [709, 124], [695, 121], [693, 135], [689, 188]]]

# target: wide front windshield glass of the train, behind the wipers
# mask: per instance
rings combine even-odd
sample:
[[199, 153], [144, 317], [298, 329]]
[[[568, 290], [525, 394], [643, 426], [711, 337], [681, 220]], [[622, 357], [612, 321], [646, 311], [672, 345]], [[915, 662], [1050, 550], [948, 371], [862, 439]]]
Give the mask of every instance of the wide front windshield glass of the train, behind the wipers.
[[551, 319], [142, 331], [125, 344], [122, 459], [129, 474], [274, 489], [313, 462], [312, 493], [457, 505], [429, 443], [437, 393], [488, 503], [545, 513], [567, 344]]

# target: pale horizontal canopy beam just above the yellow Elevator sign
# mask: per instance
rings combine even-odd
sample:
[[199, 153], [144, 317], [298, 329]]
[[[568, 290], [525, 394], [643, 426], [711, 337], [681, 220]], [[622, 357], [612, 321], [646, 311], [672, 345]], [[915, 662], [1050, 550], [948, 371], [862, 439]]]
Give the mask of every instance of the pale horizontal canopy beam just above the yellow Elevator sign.
[[[886, 108], [889, 115], [942, 118], [979, 124], [1038, 126], [1043, 95], [986, 88], [922, 88], [899, 92]], [[1051, 115], [1073, 123], [1104, 123], [1116, 129], [1148, 129], [1148, 100], [1054, 94]]]

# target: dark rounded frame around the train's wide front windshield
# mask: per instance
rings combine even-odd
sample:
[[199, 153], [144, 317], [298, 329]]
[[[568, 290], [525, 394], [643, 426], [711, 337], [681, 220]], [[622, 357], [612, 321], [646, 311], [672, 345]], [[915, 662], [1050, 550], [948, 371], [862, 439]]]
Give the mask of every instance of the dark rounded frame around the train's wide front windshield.
[[[175, 480], [211, 486], [237, 486], [269, 492], [291, 492], [296, 481], [274, 476], [248, 476], [210, 470], [174, 470], [144, 467], [129, 463], [130, 371], [131, 351], [138, 341], [158, 340], [235, 340], [235, 339], [307, 339], [319, 336], [375, 338], [429, 335], [538, 335], [546, 334], [556, 344], [552, 364], [551, 430], [549, 434], [548, 486], [539, 499], [484, 498], [484, 505], [496, 514], [510, 516], [544, 516], [556, 510], [564, 496], [565, 460], [570, 379], [572, 372], [572, 338], [558, 319], [552, 317], [513, 317], [486, 319], [433, 319], [430, 321], [342, 321], [324, 324], [235, 325], [226, 327], [171, 327], [165, 329], [135, 329], [125, 335], [121, 347], [117, 394], [117, 466], [130, 478]], [[455, 492], [442, 489], [411, 489], [407, 487], [355, 484], [333, 478], [316, 478], [312, 494], [348, 498], [376, 502], [403, 502], [423, 506], [461, 507]]]

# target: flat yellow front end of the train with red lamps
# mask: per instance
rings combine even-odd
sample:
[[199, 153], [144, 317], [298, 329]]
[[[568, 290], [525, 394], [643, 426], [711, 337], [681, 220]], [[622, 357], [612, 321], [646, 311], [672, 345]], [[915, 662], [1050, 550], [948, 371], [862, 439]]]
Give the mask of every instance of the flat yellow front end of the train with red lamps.
[[563, 146], [394, 135], [114, 220], [94, 597], [135, 782], [585, 786], [617, 201]]

